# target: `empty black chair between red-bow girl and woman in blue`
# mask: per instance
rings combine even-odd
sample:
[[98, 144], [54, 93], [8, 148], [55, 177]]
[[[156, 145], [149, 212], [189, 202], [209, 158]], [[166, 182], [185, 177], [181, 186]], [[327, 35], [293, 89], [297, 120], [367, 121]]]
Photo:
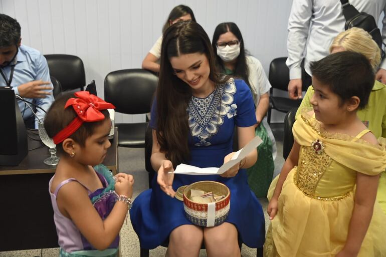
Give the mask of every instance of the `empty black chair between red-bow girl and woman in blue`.
[[[150, 112], [158, 77], [147, 70], [128, 69], [114, 71], [105, 78], [105, 100], [115, 105], [115, 111], [125, 114]], [[147, 122], [115, 123], [118, 127], [118, 145], [145, 147]]]

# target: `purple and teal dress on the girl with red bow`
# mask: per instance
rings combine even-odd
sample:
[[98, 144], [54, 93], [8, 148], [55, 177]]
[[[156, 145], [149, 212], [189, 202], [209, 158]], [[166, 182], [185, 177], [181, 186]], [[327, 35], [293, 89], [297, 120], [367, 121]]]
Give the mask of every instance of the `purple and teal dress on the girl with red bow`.
[[[51, 178], [49, 183], [49, 192], [51, 196], [52, 207], [54, 209], [54, 221], [56, 225], [56, 231], [59, 238], [60, 255], [61, 256], [92, 256], [93, 253], [97, 256], [115, 256], [119, 244], [119, 235], [114, 239], [108, 249], [104, 250], [105, 254], [101, 255], [101, 251], [96, 250], [90, 242], [82, 235], [79, 229], [75, 226], [71, 219], [65, 217], [59, 210], [56, 197], [60, 188], [70, 181], [77, 181], [82, 184], [88, 191], [91, 202], [95, 209], [98, 211], [100, 217], [104, 220], [111, 212], [117, 199], [117, 194], [114, 191], [115, 180], [111, 171], [109, 171], [104, 165], [100, 164], [94, 167], [96, 174], [98, 175], [103, 187], [91, 192], [86, 186], [80, 183], [75, 178], [69, 178], [62, 181], [54, 193], [50, 191], [51, 183], [55, 175]], [[103, 252], [103, 251], [102, 251]], [[90, 255], [91, 254], [91, 255]]]

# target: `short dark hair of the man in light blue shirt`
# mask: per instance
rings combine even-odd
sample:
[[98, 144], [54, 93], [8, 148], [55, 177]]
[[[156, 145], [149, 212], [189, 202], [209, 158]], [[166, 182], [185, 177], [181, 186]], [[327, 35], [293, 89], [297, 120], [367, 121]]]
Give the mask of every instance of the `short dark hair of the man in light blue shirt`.
[[18, 45], [20, 32], [18, 21], [8, 15], [0, 14], [0, 48]]

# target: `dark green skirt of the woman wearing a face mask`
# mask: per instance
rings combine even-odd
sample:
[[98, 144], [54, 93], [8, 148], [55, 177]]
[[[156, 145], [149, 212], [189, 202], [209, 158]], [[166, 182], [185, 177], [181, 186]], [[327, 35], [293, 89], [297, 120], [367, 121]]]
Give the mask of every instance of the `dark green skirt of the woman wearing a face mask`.
[[255, 129], [255, 135], [259, 136], [263, 143], [257, 147], [256, 163], [247, 169], [248, 184], [256, 197], [262, 198], [267, 196], [275, 164], [272, 158], [272, 141], [263, 124]]

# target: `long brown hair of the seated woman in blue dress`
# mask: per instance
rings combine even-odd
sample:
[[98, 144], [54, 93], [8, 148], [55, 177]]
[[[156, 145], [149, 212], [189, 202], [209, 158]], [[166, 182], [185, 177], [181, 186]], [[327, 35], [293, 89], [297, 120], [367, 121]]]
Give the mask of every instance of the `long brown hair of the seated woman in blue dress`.
[[205, 54], [211, 69], [209, 79], [223, 84], [228, 77], [221, 76], [211, 41], [204, 29], [194, 21], [179, 22], [170, 26], [163, 34], [161, 63], [157, 87], [157, 130], [156, 136], [161, 151], [173, 165], [189, 160], [188, 114], [186, 112], [191, 89], [174, 76], [169, 59], [184, 54]]

